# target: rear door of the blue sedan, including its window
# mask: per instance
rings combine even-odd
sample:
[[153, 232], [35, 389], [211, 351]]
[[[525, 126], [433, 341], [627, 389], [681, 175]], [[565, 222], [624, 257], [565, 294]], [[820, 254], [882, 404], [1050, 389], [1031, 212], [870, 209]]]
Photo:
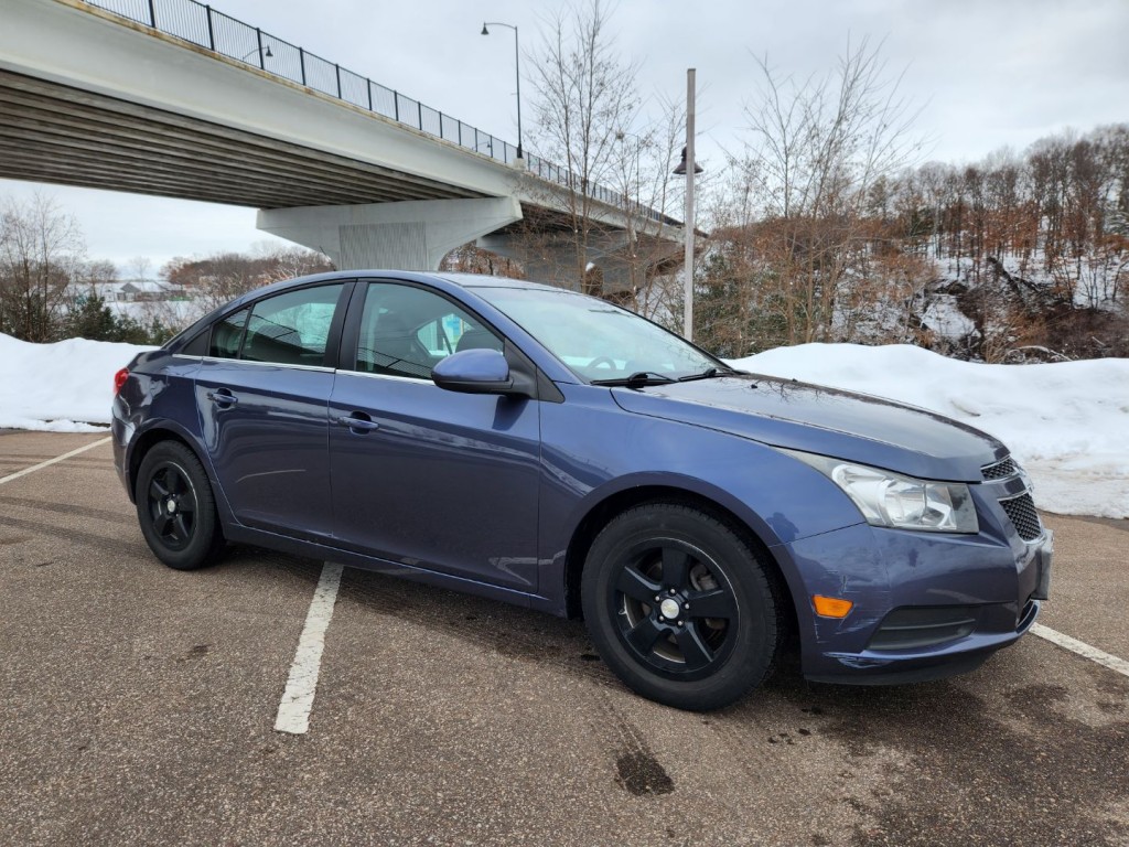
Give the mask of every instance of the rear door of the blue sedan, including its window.
[[247, 526], [332, 535], [326, 408], [335, 356], [327, 360], [326, 351], [351, 287], [264, 297], [212, 328], [196, 407], [220, 488]]

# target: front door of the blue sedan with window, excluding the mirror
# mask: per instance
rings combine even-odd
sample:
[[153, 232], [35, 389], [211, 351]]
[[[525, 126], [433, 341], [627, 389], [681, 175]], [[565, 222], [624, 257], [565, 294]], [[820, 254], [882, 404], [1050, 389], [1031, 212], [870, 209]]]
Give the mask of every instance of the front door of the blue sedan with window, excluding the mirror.
[[[370, 281], [330, 399], [338, 543], [392, 561], [536, 588], [539, 403], [439, 388], [431, 368], [502, 341], [445, 295]], [[358, 291], [358, 295], [361, 292]], [[348, 369], [347, 369], [348, 368]]]

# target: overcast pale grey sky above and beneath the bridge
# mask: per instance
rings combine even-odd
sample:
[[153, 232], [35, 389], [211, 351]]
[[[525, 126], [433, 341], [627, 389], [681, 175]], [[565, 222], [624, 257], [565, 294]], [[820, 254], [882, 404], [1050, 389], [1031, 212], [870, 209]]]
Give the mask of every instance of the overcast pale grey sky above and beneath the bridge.
[[[482, 37], [483, 20], [519, 27], [523, 52], [562, 0], [215, 0], [219, 11], [301, 45], [496, 136], [516, 140], [513, 33]], [[797, 78], [834, 69], [848, 40], [884, 41], [891, 75], [922, 107], [928, 159], [972, 161], [1042, 136], [1129, 121], [1129, 0], [620, 0], [613, 29], [640, 63], [653, 104], [684, 98], [698, 76], [698, 156], [720, 166], [739, 147], [743, 107], [767, 54]], [[527, 61], [523, 56], [523, 61]], [[532, 85], [523, 75], [528, 104]], [[526, 123], [532, 110], [526, 106]], [[526, 133], [528, 134], [528, 132]], [[535, 151], [535, 150], [534, 150]], [[255, 211], [0, 180], [0, 197], [53, 195], [73, 213], [93, 259], [126, 272], [174, 255], [247, 250], [269, 239]]]

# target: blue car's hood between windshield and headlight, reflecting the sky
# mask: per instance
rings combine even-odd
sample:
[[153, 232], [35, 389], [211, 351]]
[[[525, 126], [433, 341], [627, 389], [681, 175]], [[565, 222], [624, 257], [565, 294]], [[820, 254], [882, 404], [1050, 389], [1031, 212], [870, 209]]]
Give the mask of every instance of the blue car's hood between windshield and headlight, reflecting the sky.
[[772, 376], [613, 388], [625, 411], [911, 477], [979, 482], [1007, 448], [990, 435], [891, 400]]

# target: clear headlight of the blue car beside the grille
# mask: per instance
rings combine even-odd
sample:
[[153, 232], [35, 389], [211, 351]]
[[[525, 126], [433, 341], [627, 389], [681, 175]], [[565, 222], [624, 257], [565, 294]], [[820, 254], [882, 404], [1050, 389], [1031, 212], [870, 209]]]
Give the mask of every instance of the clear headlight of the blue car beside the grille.
[[924, 532], [980, 531], [972, 496], [963, 482], [933, 482], [814, 453], [782, 452], [839, 486], [869, 524]]

